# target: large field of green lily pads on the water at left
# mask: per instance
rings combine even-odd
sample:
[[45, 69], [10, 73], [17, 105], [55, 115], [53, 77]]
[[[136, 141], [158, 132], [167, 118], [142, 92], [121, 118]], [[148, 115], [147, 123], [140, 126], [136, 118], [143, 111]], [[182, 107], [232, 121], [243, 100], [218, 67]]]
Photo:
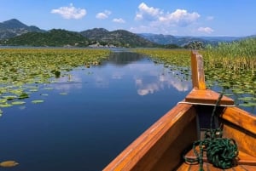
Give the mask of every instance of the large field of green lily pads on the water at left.
[[41, 90], [38, 84], [54, 83], [55, 78], [67, 76], [77, 66], [100, 65], [110, 53], [92, 48], [1, 48], [0, 99], [29, 98]]

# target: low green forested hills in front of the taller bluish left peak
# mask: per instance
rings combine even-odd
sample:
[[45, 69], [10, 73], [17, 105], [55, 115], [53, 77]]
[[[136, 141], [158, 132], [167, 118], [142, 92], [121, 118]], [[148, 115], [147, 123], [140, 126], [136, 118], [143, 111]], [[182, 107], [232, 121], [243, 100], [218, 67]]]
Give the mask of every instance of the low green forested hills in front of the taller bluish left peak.
[[[96, 32], [94, 32], [96, 31]], [[90, 35], [90, 36], [88, 36]], [[0, 40], [0, 45], [11, 46], [75, 46], [75, 47], [126, 47], [126, 48], [152, 48], [157, 43], [152, 43], [129, 31], [104, 31], [98, 29], [84, 32], [53, 29], [46, 32], [27, 32], [17, 37]]]

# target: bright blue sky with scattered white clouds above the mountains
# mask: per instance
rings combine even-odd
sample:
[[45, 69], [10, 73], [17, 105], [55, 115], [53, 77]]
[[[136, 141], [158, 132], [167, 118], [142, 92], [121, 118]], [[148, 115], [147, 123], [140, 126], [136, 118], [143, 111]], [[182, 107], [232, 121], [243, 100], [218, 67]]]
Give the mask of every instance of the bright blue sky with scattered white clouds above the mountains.
[[256, 0], [0, 0], [0, 22], [174, 36], [256, 34]]

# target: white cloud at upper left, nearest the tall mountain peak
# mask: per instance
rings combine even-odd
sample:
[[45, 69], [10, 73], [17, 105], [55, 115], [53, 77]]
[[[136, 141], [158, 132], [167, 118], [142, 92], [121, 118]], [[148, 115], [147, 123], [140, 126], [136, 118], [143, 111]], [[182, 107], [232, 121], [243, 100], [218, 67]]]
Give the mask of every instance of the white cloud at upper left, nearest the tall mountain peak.
[[77, 9], [73, 6], [73, 3], [69, 4], [69, 7], [60, 7], [59, 9], [52, 9], [52, 14], [60, 14], [64, 19], [81, 19], [86, 14], [85, 9]]

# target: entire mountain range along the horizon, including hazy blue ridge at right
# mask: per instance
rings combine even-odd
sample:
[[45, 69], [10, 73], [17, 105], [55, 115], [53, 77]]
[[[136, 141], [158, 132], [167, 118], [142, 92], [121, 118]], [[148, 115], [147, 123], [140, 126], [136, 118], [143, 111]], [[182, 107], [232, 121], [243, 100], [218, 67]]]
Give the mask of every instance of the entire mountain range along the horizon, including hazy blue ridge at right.
[[[255, 37], [255, 36], [254, 36]], [[86, 31], [65, 31], [52, 29], [44, 31], [37, 26], [26, 26], [20, 20], [12, 19], [0, 23], [0, 45], [26, 46], [114, 46], [114, 47], [183, 47], [191, 42], [216, 45], [232, 42], [244, 37], [183, 37], [163, 34], [140, 33], [104, 28]], [[174, 46], [174, 47], [176, 47]]]

